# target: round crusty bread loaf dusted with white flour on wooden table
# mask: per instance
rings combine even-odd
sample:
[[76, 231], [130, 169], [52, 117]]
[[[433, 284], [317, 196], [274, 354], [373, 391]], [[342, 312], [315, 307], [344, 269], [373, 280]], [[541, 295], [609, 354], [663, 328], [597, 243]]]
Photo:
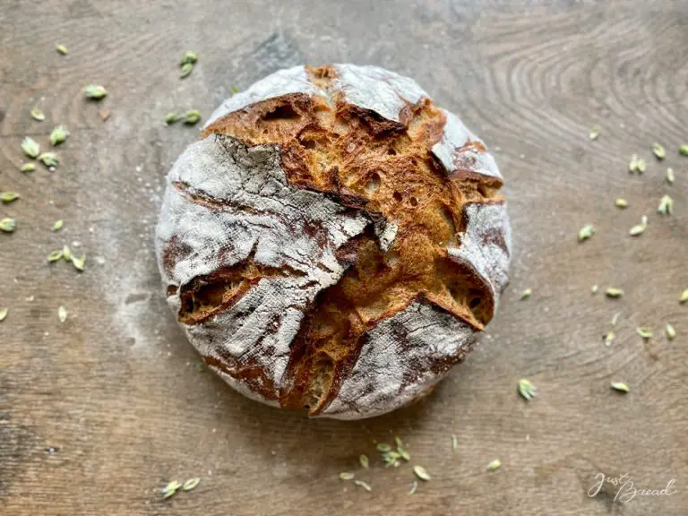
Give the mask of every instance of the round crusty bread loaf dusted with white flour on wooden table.
[[213, 113], [168, 174], [168, 303], [237, 391], [312, 417], [417, 400], [471, 348], [507, 282], [502, 176], [416, 82], [280, 70]]

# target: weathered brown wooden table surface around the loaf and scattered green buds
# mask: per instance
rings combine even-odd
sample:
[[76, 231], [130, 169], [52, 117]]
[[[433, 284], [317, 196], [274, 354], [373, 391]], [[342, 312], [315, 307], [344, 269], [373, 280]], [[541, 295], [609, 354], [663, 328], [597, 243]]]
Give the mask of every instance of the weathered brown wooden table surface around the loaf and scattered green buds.
[[[0, 191], [22, 195], [0, 206], [17, 219], [0, 234], [0, 513], [688, 512], [684, 0], [1, 0], [0, 27]], [[188, 49], [200, 60], [180, 80]], [[165, 114], [209, 116], [233, 85], [331, 62], [408, 74], [458, 113], [495, 154], [514, 232], [512, 283], [480, 346], [426, 400], [358, 422], [264, 407], [199, 367], [152, 245], [164, 176], [198, 135]], [[84, 99], [90, 83], [107, 99]], [[30, 117], [37, 104], [44, 122]], [[59, 167], [22, 174], [24, 136], [47, 149], [58, 124], [71, 133]], [[633, 152], [642, 175], [627, 171]], [[665, 193], [671, 217], [657, 213]], [[629, 236], [643, 214], [647, 230]], [[597, 232], [579, 244], [588, 223]], [[64, 244], [87, 254], [85, 271], [47, 263]], [[604, 297], [610, 286], [624, 297]], [[520, 399], [520, 378], [535, 400]], [[615, 380], [631, 392], [612, 391]], [[394, 435], [412, 460], [384, 469], [375, 443]], [[433, 478], [408, 495], [413, 464]], [[340, 481], [344, 470], [372, 493]], [[600, 474], [639, 490], [674, 483], [635, 496], [605, 483], [589, 496]], [[160, 487], [189, 477], [200, 485], [161, 500]]]

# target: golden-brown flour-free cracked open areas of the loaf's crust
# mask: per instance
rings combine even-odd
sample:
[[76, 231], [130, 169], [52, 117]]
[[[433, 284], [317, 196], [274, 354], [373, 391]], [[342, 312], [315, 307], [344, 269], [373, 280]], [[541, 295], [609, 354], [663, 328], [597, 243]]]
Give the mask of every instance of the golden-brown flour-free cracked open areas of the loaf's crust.
[[[325, 90], [336, 77], [331, 66], [310, 68], [309, 73]], [[219, 118], [203, 132], [205, 137], [231, 136], [248, 146], [278, 145], [291, 185], [325, 193], [352, 210], [365, 211], [371, 220], [386, 219], [398, 226], [386, 252], [372, 227], [339, 249], [338, 258], [348, 270], [306, 308], [279, 393], [257, 364], [206, 357], [209, 365], [248, 383], [268, 400], [307, 409], [311, 415], [337, 395], [368, 332], [410, 303], [421, 300], [476, 331], [484, 328], [495, 311], [491, 288], [471, 267], [453, 262], [446, 247], [460, 245], [466, 205], [503, 202], [497, 193], [501, 180], [477, 174], [470, 166], [448, 174], [434, 159], [431, 149], [442, 139], [446, 119], [429, 99], [405, 107], [395, 122], [332, 93], [331, 99], [293, 93], [264, 100]], [[469, 142], [463, 150], [486, 151], [480, 142]], [[462, 162], [467, 160], [456, 164]], [[193, 202], [223, 209], [202, 193], [176, 186]], [[503, 236], [492, 237], [506, 249]], [[163, 256], [166, 268], [174, 262], [166, 257], [187, 252], [176, 247], [171, 240]], [[208, 321], [236, 304], [254, 282], [292, 272], [258, 267], [247, 259], [196, 278], [180, 288], [179, 318], [187, 324]], [[465, 352], [434, 369], [438, 374], [446, 371]]]

